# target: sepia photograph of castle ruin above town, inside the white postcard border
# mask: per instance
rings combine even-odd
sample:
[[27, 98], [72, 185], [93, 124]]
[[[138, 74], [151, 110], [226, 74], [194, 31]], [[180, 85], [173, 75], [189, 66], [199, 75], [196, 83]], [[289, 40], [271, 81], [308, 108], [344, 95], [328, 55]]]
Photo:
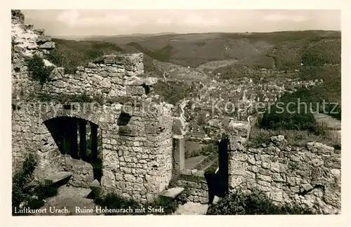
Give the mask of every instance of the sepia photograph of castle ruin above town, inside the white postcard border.
[[341, 34], [334, 9], [11, 9], [12, 216], [340, 215]]

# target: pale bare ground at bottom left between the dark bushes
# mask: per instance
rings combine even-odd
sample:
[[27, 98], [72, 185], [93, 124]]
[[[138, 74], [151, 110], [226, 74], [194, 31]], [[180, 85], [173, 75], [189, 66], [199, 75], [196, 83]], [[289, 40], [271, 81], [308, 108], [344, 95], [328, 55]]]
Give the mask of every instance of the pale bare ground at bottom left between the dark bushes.
[[[90, 189], [88, 188], [74, 188], [69, 186], [62, 186], [58, 188], [58, 195], [48, 198], [46, 200], [46, 204], [41, 209], [46, 208], [46, 214], [36, 214], [36, 215], [96, 215], [95, 212], [93, 214], [89, 213], [76, 213], [76, 207], [81, 209], [95, 209], [95, 204], [93, 200], [86, 198], [86, 196], [90, 193]], [[54, 209], [62, 209], [66, 207], [69, 213], [51, 213]]]

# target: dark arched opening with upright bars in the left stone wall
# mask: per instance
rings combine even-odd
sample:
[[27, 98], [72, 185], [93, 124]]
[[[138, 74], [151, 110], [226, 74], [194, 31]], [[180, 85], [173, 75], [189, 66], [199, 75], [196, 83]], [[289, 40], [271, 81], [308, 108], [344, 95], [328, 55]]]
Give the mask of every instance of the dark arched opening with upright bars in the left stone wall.
[[44, 122], [62, 155], [88, 162], [93, 166], [94, 179], [102, 176], [99, 155], [98, 124], [78, 117], [55, 117]]

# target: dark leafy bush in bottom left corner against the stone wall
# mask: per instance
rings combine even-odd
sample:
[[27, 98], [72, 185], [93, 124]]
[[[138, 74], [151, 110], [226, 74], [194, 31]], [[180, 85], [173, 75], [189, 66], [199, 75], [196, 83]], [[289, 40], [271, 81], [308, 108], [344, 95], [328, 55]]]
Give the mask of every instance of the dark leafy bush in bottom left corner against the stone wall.
[[41, 186], [33, 182], [33, 172], [37, 166], [34, 155], [29, 153], [22, 164], [22, 169], [15, 173], [12, 181], [13, 215], [29, 215], [15, 213], [20, 207], [38, 209], [44, 205], [44, 200], [58, 194], [55, 186]]

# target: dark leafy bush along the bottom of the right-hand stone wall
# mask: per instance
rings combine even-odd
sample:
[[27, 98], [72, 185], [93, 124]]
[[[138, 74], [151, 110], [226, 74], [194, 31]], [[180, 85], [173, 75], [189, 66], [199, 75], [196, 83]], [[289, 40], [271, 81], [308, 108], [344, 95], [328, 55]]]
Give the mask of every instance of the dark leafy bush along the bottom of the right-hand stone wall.
[[207, 215], [244, 215], [244, 214], [314, 214], [309, 209], [297, 206], [278, 206], [262, 193], [253, 192], [230, 194], [208, 207]]

